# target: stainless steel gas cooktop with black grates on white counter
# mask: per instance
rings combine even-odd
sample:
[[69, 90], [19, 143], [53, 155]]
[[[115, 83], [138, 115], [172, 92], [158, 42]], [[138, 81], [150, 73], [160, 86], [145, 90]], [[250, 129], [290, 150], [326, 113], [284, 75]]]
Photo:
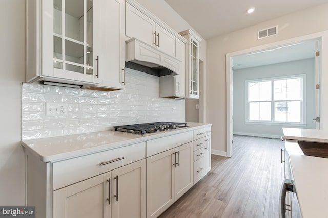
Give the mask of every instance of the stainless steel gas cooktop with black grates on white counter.
[[154, 123], [116, 126], [114, 128], [115, 128], [115, 131], [144, 135], [146, 133], [154, 133], [154, 132], [178, 129], [178, 128], [183, 128], [183, 127], [187, 127], [187, 123], [154, 122]]

